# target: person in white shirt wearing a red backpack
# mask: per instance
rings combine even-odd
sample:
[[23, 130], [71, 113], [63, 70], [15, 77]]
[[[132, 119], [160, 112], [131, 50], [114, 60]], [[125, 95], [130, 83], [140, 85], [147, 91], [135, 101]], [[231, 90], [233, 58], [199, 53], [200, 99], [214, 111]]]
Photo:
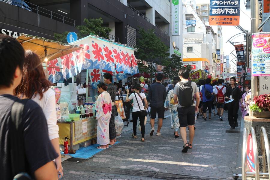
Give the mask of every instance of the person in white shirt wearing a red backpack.
[[226, 92], [226, 87], [222, 85], [222, 83], [223, 83], [222, 79], [218, 79], [217, 80], [218, 86], [216, 86], [213, 89], [215, 100], [217, 102], [217, 113], [219, 115], [220, 121], [223, 121], [222, 115], [225, 106], [225, 92]]

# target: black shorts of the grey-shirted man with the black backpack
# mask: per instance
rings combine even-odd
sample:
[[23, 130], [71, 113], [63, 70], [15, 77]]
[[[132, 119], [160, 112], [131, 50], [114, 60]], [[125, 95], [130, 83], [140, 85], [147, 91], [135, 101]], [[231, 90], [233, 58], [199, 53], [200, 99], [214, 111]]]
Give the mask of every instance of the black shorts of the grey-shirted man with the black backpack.
[[180, 127], [195, 124], [195, 106], [179, 107], [177, 110]]

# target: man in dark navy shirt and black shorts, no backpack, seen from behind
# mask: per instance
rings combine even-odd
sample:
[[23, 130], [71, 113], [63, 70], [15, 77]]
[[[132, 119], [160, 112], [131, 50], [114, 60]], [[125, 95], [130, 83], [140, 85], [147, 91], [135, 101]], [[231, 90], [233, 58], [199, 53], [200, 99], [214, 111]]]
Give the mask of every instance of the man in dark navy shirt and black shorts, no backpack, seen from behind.
[[154, 124], [155, 124], [155, 118], [156, 113], [158, 113], [158, 131], [157, 136], [161, 135], [161, 127], [162, 122], [164, 118], [164, 102], [167, 96], [166, 88], [164, 85], [161, 84], [161, 80], [163, 79], [163, 75], [161, 73], [158, 73], [156, 75], [156, 82], [152, 84], [149, 88], [149, 93], [147, 100], [150, 102], [151, 112], [150, 112], [150, 124], [151, 124], [151, 133], [150, 136], [153, 136], [153, 133], [155, 131]]

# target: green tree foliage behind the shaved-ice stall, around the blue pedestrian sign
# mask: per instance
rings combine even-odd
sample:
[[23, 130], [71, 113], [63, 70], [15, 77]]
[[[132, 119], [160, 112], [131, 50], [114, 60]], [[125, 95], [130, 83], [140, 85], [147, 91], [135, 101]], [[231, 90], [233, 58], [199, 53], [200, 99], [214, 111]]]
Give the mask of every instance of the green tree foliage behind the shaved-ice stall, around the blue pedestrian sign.
[[[104, 37], [104, 38], [109, 38], [107, 33], [111, 32], [112, 29], [102, 26], [103, 19], [101, 17], [98, 19], [86, 19], [85, 18], [83, 20], [83, 22], [85, 23], [85, 25], [75, 27], [79, 32], [79, 33], [77, 33], [78, 39], [84, 38], [84, 37], [90, 35], [91, 33], [94, 35]], [[67, 32], [67, 31], [65, 31], [61, 34], [54, 33], [54, 37], [59, 42], [67, 43], [66, 38], [67, 38], [68, 33], [69, 32]]]

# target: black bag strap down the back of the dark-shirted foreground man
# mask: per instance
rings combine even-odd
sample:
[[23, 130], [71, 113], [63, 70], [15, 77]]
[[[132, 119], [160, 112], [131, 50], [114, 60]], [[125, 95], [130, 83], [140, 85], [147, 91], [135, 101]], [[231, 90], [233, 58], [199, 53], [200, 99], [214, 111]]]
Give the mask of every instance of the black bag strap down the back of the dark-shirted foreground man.
[[11, 108], [11, 125], [10, 125], [10, 157], [11, 170], [13, 179], [16, 180], [32, 180], [29, 174], [26, 173], [26, 156], [24, 152], [23, 140], [23, 125], [22, 114], [24, 105], [29, 99], [17, 100]]

